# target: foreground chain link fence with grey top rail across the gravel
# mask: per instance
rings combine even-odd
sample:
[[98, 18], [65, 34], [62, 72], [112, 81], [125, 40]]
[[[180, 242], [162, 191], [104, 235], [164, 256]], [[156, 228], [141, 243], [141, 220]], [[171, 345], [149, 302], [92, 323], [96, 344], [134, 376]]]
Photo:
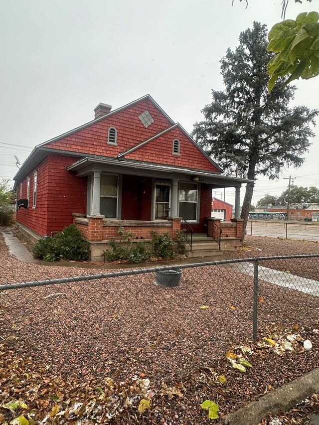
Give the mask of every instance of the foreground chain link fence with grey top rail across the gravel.
[[[23, 359], [52, 376], [93, 379], [96, 388], [103, 377], [124, 382], [146, 374], [182, 385], [181, 376], [223, 357], [233, 344], [278, 327], [318, 327], [318, 317], [319, 255], [0, 285], [0, 345], [16, 356], [6, 373], [15, 376]], [[23, 363], [23, 373], [30, 370]], [[52, 397], [61, 396], [49, 389]]]

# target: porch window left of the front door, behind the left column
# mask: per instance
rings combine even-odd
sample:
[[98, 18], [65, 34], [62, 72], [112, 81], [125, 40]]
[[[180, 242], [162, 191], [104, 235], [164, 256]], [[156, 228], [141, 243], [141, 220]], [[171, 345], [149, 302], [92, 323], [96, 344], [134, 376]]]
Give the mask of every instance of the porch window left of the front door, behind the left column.
[[100, 214], [106, 218], [118, 217], [119, 176], [101, 174]]

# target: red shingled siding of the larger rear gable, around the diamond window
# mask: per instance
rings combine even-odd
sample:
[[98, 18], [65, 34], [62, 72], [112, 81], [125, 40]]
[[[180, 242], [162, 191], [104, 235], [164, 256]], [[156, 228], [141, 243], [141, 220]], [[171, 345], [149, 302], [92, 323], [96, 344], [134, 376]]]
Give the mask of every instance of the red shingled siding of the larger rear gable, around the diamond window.
[[[154, 123], [147, 129], [139, 119], [139, 115], [145, 110], [154, 119]], [[115, 157], [170, 126], [170, 122], [153, 102], [144, 100], [63, 139], [50, 142], [46, 147]], [[109, 127], [117, 130], [117, 146], [107, 144]]]

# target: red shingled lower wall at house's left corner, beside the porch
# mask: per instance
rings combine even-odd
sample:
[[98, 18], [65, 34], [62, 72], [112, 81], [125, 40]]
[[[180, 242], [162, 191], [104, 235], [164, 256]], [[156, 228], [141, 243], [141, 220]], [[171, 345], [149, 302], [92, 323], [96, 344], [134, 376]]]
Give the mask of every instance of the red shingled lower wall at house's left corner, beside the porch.
[[[17, 211], [17, 222], [40, 236], [63, 230], [73, 223], [72, 213], [86, 212], [87, 178], [66, 171], [77, 158], [48, 155], [36, 168], [37, 199], [32, 208], [33, 171], [30, 176], [29, 208]], [[26, 198], [26, 181], [22, 181], [22, 198]]]

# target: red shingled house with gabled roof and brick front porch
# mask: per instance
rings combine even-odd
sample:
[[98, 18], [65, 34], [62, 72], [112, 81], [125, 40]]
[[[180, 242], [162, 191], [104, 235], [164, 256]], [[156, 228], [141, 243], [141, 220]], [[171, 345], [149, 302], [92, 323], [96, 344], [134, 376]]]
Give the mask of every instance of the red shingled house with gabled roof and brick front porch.
[[74, 222], [98, 260], [120, 226], [144, 239], [152, 230], [175, 237], [181, 227], [214, 236], [212, 189], [235, 187], [235, 219], [221, 230], [241, 238], [239, 194], [248, 180], [223, 176], [150, 95], [94, 111], [93, 121], [35, 146], [14, 176], [20, 230], [38, 239]]

